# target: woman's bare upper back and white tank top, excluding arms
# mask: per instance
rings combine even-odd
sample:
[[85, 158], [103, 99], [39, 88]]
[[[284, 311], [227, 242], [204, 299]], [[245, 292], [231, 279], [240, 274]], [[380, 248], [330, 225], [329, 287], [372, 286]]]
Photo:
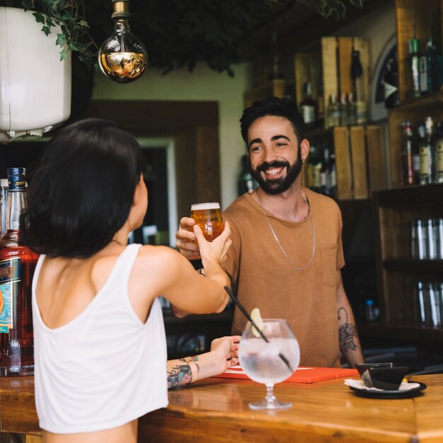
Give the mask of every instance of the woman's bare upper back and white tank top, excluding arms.
[[119, 427], [168, 403], [161, 306], [154, 301], [146, 323], [137, 316], [128, 287], [139, 245], [119, 250], [38, 263], [35, 400], [49, 432]]

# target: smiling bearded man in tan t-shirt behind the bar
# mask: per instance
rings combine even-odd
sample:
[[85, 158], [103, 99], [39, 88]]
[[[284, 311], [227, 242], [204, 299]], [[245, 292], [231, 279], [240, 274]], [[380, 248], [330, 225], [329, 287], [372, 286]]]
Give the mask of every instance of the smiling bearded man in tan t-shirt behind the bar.
[[[362, 363], [355, 319], [343, 288], [342, 218], [329, 197], [301, 187], [309, 155], [304, 121], [294, 100], [267, 98], [243, 111], [241, 134], [251, 174], [259, 188], [223, 213], [232, 246], [224, 270], [248, 312], [284, 318], [299, 341], [301, 366], [339, 367], [340, 352], [351, 367]], [[176, 234], [180, 253], [200, 257], [184, 217]], [[246, 318], [234, 313], [233, 333]]]

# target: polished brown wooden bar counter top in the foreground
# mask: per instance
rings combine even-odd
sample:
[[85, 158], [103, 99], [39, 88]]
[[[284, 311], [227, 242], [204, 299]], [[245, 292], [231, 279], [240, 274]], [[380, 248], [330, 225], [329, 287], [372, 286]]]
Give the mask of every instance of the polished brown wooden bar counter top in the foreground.
[[[443, 443], [443, 374], [412, 379], [427, 389], [395, 400], [359, 398], [344, 379], [278, 384], [277, 397], [293, 406], [276, 412], [248, 408], [263, 385], [207, 379], [169, 391], [168, 408], [139, 419], [139, 442]], [[39, 435], [33, 377], [1, 378], [0, 393], [1, 431]]]

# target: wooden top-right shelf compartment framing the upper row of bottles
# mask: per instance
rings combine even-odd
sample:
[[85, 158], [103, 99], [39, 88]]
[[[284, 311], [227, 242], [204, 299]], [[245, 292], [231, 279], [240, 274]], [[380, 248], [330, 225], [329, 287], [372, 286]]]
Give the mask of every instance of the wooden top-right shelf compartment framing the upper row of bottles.
[[432, 37], [441, 51], [442, 11], [442, 0], [396, 0], [398, 98], [402, 104], [413, 91], [409, 42], [418, 38], [421, 52], [425, 52], [425, 42]]

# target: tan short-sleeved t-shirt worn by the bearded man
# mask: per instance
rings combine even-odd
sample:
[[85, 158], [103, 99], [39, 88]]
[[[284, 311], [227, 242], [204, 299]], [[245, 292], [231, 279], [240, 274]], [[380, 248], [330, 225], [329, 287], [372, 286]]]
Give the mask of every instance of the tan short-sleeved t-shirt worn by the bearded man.
[[[284, 251], [284, 257], [263, 210], [251, 195], [238, 197], [224, 211], [231, 224], [233, 244], [224, 267], [234, 294], [246, 311], [259, 308], [263, 318], [284, 318], [300, 345], [301, 366], [338, 367], [337, 278], [345, 265], [342, 219], [334, 200], [304, 189], [311, 207], [302, 222], [286, 222], [266, 212]], [[312, 227], [313, 222], [313, 227]], [[234, 313], [233, 333], [241, 334], [246, 318]]]

